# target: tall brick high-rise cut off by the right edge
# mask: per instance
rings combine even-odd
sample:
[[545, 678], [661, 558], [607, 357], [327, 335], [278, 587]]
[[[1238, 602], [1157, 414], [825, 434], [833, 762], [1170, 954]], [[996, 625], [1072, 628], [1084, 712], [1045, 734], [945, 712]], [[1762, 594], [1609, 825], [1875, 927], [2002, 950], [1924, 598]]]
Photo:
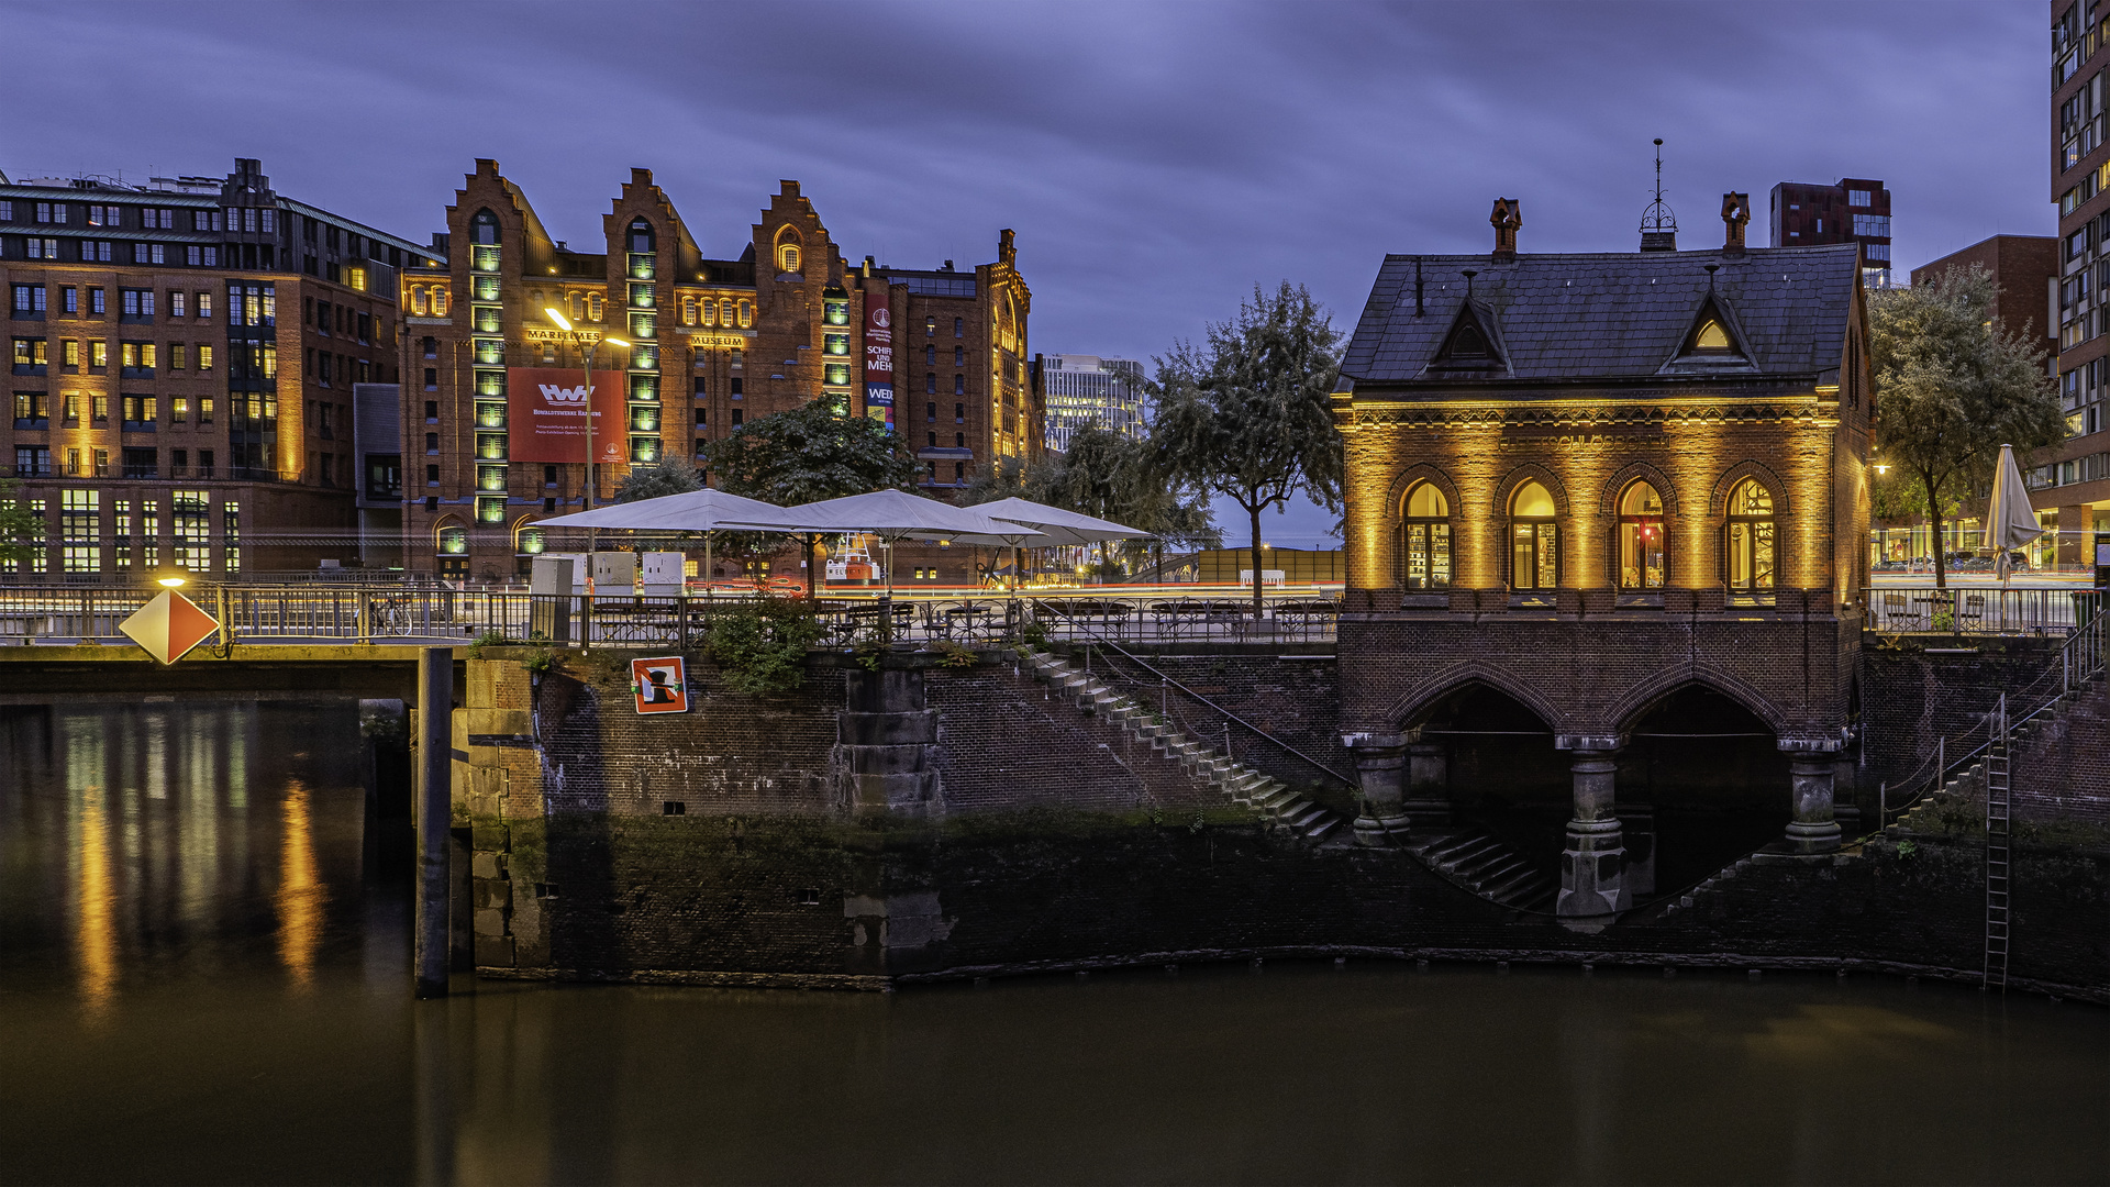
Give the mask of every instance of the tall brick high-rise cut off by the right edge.
[[2057, 528], [2057, 562], [2089, 566], [2110, 543], [2110, 11], [2051, 4], [2051, 196], [2059, 203], [2055, 304], [2059, 399], [2070, 437], [2030, 471], [2030, 505]]

